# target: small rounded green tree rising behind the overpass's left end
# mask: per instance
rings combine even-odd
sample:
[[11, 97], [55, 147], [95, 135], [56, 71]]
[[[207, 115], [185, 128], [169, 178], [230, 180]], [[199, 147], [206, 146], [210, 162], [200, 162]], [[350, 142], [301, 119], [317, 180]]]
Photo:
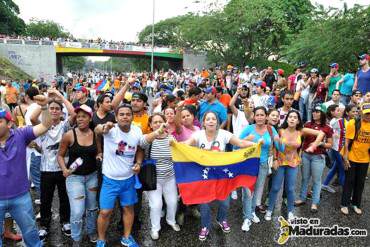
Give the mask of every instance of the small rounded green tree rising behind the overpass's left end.
[[67, 38], [70, 36], [70, 34], [64, 30], [63, 26], [58, 23], [34, 18], [31, 19], [26, 27], [26, 35], [36, 38], [49, 37], [52, 39]]

